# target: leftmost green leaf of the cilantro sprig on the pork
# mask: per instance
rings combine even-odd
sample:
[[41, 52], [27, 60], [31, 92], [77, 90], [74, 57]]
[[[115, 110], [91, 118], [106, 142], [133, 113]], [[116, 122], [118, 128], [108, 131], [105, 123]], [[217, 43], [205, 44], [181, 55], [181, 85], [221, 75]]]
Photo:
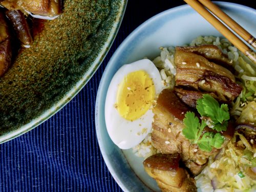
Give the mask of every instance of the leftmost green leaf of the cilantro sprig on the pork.
[[182, 130], [183, 135], [189, 140], [195, 140], [200, 127], [199, 119], [194, 112], [187, 112], [183, 119], [185, 128]]

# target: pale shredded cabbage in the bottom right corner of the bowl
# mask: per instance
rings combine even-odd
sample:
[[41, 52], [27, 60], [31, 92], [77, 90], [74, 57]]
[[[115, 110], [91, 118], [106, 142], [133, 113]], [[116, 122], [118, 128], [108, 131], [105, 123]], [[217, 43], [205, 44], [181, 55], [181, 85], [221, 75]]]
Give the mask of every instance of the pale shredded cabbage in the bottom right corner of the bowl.
[[[214, 183], [210, 191], [256, 191], [256, 180], [251, 178], [246, 170], [251, 168], [252, 162], [244, 155], [247, 151], [252, 157], [255, 156], [255, 149], [247, 142], [243, 135], [236, 133], [242, 143], [245, 144], [246, 150], [236, 147], [236, 142], [230, 141], [227, 148], [223, 150], [223, 156], [214, 160], [209, 159], [208, 165], [203, 172], [195, 179], [197, 186], [204, 191], [205, 181]], [[241, 178], [241, 175], [244, 177]], [[256, 174], [255, 174], [256, 175]]]

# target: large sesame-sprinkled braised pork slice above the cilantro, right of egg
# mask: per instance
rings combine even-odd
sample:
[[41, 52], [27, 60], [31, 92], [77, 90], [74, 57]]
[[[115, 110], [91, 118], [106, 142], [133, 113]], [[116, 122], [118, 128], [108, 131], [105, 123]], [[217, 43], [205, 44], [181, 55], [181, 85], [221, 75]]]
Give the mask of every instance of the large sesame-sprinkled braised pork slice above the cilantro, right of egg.
[[176, 47], [174, 59], [177, 67], [176, 86], [214, 93], [218, 100], [227, 102], [234, 100], [242, 91], [229, 70], [201, 55]]

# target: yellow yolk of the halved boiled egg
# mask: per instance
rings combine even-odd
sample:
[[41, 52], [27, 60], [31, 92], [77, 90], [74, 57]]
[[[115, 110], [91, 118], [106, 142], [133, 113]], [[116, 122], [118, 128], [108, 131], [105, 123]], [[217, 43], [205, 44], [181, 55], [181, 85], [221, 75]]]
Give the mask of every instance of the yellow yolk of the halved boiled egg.
[[144, 115], [155, 99], [152, 78], [143, 70], [127, 74], [119, 84], [116, 108], [126, 120], [136, 120]]

